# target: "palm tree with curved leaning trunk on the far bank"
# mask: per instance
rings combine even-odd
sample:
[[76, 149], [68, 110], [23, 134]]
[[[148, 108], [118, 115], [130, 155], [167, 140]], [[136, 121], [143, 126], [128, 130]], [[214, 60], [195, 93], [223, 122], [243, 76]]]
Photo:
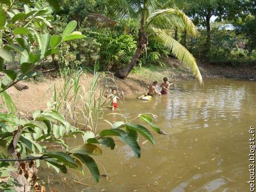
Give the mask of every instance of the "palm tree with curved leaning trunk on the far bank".
[[[184, 61], [191, 68], [193, 74], [202, 83], [202, 76], [196, 65], [193, 55], [172, 35], [175, 29], [186, 30], [191, 36], [197, 35], [193, 22], [180, 10], [170, 7], [169, 0], [111, 0], [115, 10], [124, 17], [132, 17], [140, 20], [138, 45], [136, 52], [129, 63], [122, 70], [115, 73], [116, 77], [125, 78], [140, 59], [141, 53], [147, 48], [148, 40], [157, 40], [180, 61]], [[165, 7], [165, 9], [163, 9]]]

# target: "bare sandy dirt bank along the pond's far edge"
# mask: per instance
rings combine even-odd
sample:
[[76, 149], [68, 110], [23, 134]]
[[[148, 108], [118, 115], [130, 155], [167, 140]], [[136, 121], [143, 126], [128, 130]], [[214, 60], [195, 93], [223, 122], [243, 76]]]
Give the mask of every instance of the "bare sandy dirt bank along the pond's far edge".
[[[198, 67], [200, 68], [203, 79], [236, 77], [253, 80], [256, 77], [256, 67], [221, 67], [200, 64], [200, 62]], [[152, 81], [158, 81], [160, 83], [163, 77], [168, 77], [169, 81], [173, 83], [186, 79], [195, 79], [186, 66], [175, 59], [170, 59], [168, 60], [168, 65], [165, 67], [136, 67], [127, 78], [115, 79], [115, 83], [112, 82], [112, 84], [116, 84], [120, 92], [124, 92], [126, 97], [132, 97], [132, 95], [137, 96], [140, 95], [140, 93], [147, 92], [148, 84], [152, 83]], [[17, 111], [19, 111], [21, 115], [29, 114], [38, 109], [47, 109], [47, 100], [51, 100], [54, 83], [60, 81], [60, 77], [53, 78], [47, 74], [47, 76], [41, 77], [40, 79], [41, 81], [23, 82], [23, 84], [28, 86], [27, 90], [19, 91], [12, 87], [7, 91], [11, 95], [17, 107]], [[88, 73], [81, 78], [80, 83], [88, 90], [92, 79], [93, 75]], [[6, 111], [4, 108], [0, 108], [0, 110], [3, 112]]]

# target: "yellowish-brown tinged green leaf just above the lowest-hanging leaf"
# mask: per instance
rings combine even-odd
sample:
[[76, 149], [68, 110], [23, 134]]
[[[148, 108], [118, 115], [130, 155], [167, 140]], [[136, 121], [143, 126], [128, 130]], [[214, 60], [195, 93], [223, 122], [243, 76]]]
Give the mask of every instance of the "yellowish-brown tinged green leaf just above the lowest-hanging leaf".
[[88, 155], [102, 155], [102, 150], [97, 146], [90, 143], [86, 143], [82, 146], [73, 148], [71, 153], [76, 154], [88, 154]]

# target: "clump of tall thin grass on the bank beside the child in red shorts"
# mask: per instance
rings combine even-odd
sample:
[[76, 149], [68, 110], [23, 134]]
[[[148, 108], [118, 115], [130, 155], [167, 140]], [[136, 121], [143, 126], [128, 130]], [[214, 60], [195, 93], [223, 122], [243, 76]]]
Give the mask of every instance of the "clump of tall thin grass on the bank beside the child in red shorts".
[[104, 116], [102, 108], [108, 106], [110, 99], [104, 98], [106, 92], [113, 87], [118, 90], [113, 75], [94, 72], [88, 90], [81, 84], [81, 77], [86, 76], [83, 70], [64, 69], [60, 75], [54, 84], [53, 109], [63, 113], [73, 125], [79, 123], [83, 129], [96, 133], [99, 120]]

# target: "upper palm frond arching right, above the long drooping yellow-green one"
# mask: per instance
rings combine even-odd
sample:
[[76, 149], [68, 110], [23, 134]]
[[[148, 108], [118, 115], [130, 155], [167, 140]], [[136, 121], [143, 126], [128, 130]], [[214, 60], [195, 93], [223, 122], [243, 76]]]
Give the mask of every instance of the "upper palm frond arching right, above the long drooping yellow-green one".
[[189, 35], [197, 35], [193, 22], [180, 10], [165, 9], [151, 13], [147, 19], [147, 27], [172, 29], [176, 26], [180, 30], [186, 29]]

